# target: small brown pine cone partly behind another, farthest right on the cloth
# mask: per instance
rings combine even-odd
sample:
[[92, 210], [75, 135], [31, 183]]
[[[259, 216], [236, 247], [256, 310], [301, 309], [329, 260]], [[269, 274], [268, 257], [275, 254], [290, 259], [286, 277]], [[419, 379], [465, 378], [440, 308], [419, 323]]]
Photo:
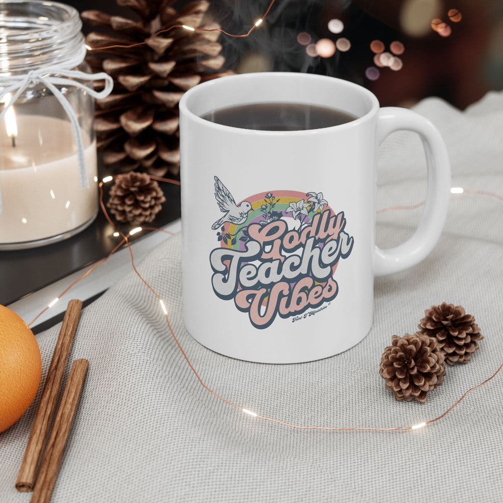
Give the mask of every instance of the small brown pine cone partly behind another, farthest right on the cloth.
[[461, 306], [442, 303], [425, 311], [426, 316], [418, 327], [421, 333], [435, 337], [446, 363], [468, 363], [478, 349], [477, 341], [484, 337], [471, 314], [465, 314]]

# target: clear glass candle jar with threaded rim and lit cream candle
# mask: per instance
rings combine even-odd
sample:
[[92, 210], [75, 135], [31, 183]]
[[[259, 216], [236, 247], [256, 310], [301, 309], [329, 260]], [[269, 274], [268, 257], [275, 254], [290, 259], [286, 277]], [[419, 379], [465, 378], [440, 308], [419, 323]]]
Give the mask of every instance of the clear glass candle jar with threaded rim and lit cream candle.
[[0, 249], [65, 239], [98, 213], [98, 93], [81, 26], [64, 4], [0, 2]]

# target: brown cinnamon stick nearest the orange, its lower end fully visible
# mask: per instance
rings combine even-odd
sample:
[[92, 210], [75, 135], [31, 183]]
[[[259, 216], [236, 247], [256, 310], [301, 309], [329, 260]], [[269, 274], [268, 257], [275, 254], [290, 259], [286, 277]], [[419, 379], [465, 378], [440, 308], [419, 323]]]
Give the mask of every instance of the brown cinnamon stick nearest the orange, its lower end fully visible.
[[52, 417], [56, 398], [58, 395], [61, 379], [63, 377], [68, 355], [70, 353], [71, 343], [77, 328], [78, 317], [82, 302], [80, 300], [70, 300], [63, 319], [63, 324], [56, 342], [54, 354], [52, 355], [51, 365], [47, 378], [45, 380], [40, 403], [38, 404], [35, 420], [26, 446], [25, 455], [21, 462], [16, 489], [22, 492], [33, 490], [37, 468], [42, 455], [45, 437], [49, 428], [49, 422]]

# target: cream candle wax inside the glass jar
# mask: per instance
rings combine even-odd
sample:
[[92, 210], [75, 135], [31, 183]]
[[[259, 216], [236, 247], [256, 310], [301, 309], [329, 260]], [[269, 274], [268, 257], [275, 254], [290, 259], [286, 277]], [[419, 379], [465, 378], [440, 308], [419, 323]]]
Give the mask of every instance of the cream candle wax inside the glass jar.
[[89, 189], [81, 189], [73, 129], [54, 117], [16, 117], [12, 144], [0, 126], [0, 245], [45, 239], [92, 221], [98, 209], [96, 141], [82, 133]]

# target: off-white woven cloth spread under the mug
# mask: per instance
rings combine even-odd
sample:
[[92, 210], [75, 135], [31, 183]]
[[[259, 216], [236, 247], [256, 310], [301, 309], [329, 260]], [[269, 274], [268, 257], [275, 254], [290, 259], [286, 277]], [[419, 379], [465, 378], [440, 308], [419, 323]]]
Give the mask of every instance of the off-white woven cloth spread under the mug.
[[[416, 111], [443, 134], [454, 186], [503, 195], [503, 94], [490, 93], [465, 112], [433, 98]], [[379, 165], [379, 208], [424, 198], [426, 163], [413, 135], [392, 135]], [[403, 241], [421, 212], [379, 215], [378, 244]], [[313, 363], [247, 363], [196, 343], [181, 321], [179, 236], [153, 249], [138, 269], [165, 300], [201, 378], [223, 397], [299, 425], [409, 426], [440, 415], [503, 362], [501, 215], [503, 202], [495, 198], [454, 194], [433, 253], [376, 280], [368, 336]], [[61, 301], [69, 298], [71, 292]], [[425, 404], [397, 402], [379, 375], [383, 350], [392, 334], [414, 332], [424, 310], [443, 301], [475, 316], [480, 350], [467, 365], [449, 367]], [[58, 332], [59, 325], [38, 336], [43, 379]], [[206, 391], [134, 273], [83, 310], [70, 356], [88, 358], [90, 367], [53, 502], [503, 500], [503, 372], [420, 430], [295, 430], [243, 414]], [[14, 483], [38, 399], [0, 434], [2, 503], [31, 498]]]

